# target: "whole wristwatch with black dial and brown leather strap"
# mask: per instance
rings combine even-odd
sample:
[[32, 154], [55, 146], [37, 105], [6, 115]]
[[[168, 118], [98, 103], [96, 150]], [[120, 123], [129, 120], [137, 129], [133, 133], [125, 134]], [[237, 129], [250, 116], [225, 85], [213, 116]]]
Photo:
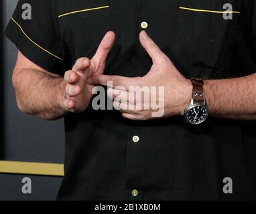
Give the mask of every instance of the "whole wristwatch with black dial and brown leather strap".
[[200, 124], [208, 117], [208, 109], [204, 97], [204, 81], [198, 78], [191, 79], [193, 90], [190, 105], [182, 111], [186, 122]]

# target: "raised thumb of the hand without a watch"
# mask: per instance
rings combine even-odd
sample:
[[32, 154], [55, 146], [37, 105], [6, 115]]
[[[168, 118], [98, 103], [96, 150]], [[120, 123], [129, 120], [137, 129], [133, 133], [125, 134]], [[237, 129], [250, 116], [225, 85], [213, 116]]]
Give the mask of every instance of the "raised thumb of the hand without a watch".
[[92, 61], [96, 62], [98, 65], [105, 64], [109, 51], [113, 47], [115, 42], [115, 33], [109, 31], [105, 34], [101, 43], [96, 51], [96, 54], [93, 56]]

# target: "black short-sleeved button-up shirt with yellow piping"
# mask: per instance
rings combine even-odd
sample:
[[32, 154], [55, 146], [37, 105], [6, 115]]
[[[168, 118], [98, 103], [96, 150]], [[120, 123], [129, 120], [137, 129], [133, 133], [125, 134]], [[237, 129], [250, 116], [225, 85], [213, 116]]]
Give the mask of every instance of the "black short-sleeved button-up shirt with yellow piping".
[[[31, 20], [22, 19], [23, 3], [31, 4]], [[233, 6], [233, 19], [220, 13], [225, 3]], [[234, 78], [256, 71], [253, 0], [20, 0], [6, 35], [29, 60], [63, 76], [76, 59], [92, 58], [112, 30], [116, 41], [105, 74], [143, 76], [151, 67], [139, 43], [143, 21], [186, 78]], [[192, 126], [182, 116], [130, 121], [115, 110], [89, 106], [66, 116], [65, 130], [58, 199], [256, 197], [255, 122], [208, 118]], [[222, 191], [225, 177], [233, 181], [233, 194]]]

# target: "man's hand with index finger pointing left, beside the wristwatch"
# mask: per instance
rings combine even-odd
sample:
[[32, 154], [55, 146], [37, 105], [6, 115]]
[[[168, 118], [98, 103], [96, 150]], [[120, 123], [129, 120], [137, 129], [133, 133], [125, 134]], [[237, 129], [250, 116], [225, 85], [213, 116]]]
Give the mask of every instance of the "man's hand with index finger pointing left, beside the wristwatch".
[[[190, 80], [186, 80], [186, 78], [184, 78], [182, 74], [178, 72], [168, 56], [166, 56], [159, 49], [159, 47], [157, 47], [157, 45], [145, 31], [141, 31], [139, 39], [141, 41], [141, 45], [145, 48], [153, 62], [151, 70], [149, 70], [145, 76], [127, 78], [122, 76], [98, 75], [89, 78], [88, 83], [93, 85], [99, 84], [107, 86], [108, 82], [113, 82], [113, 87], [109, 88], [107, 94], [109, 98], [113, 98], [113, 106], [116, 109], [118, 107], [121, 108], [123, 117], [131, 120], [151, 119], [152, 113], [155, 111], [155, 109], [143, 108], [143, 106], [148, 106], [148, 104], [145, 102], [150, 101], [143, 100], [143, 97], [142, 99], [138, 99], [137, 96], [130, 96], [130, 94], [137, 94], [139, 90], [137, 90], [138, 88], [135, 88], [135, 92], [133, 92], [129, 90], [129, 86], [139, 86], [140, 88], [147, 86], [149, 87], [149, 92], [151, 91], [151, 86], [156, 88], [164, 86], [163, 98], [161, 98], [159, 94], [156, 97], [157, 103], [164, 101], [164, 115], [162, 116], [167, 117], [180, 114], [180, 112], [184, 110], [190, 103], [192, 94], [192, 85]], [[123, 87], [125, 92], [123, 89], [120, 90], [119, 86]], [[116, 102], [115, 98], [117, 98], [117, 96], [122, 96], [122, 101], [125, 100], [126, 102]], [[149, 97], [151, 97], [151, 95], [149, 95]], [[138, 104], [142, 107], [141, 109], [136, 108]]]

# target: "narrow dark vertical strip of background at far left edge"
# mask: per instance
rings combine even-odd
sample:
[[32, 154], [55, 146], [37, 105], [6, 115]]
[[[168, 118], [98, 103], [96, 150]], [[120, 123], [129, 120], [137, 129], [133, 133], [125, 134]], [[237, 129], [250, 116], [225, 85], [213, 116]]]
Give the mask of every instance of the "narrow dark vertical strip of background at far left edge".
[[0, 1], [0, 159], [3, 159], [3, 145], [4, 145], [4, 136], [3, 136], [3, 1]]

